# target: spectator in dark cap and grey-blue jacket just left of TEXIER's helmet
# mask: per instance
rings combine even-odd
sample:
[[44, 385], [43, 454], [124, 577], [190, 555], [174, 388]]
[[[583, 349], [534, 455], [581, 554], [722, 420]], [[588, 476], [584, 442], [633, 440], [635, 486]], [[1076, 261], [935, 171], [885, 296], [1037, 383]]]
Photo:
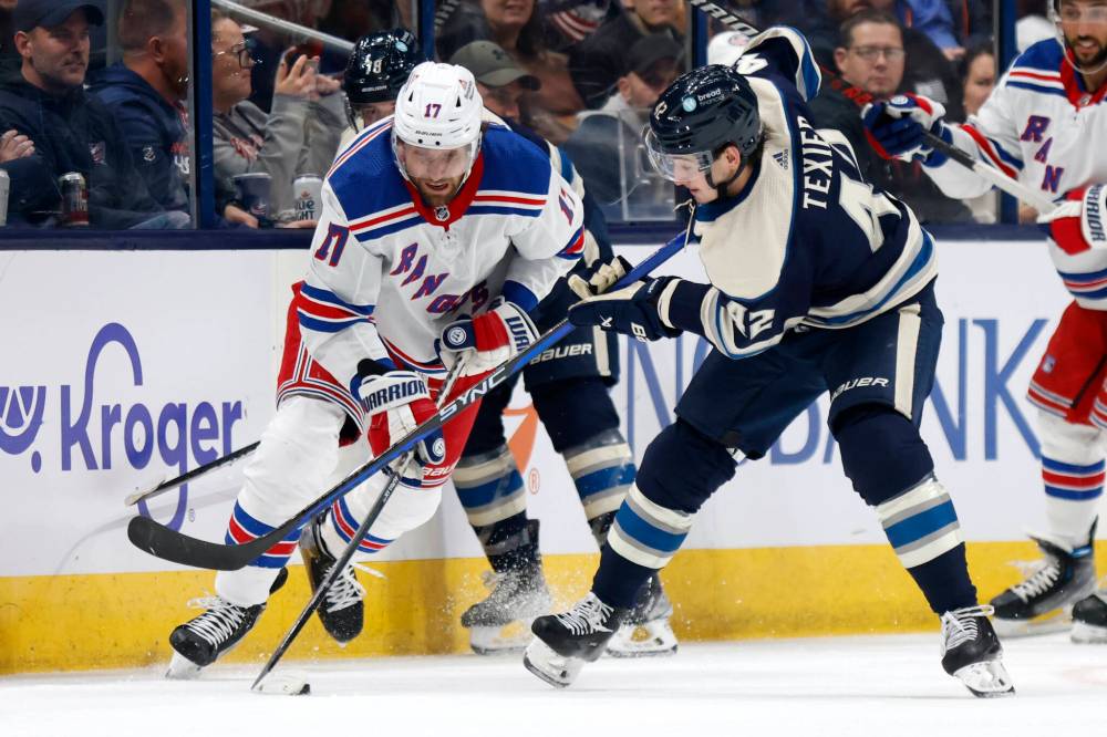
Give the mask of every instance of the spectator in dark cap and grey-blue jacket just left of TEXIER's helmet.
[[652, 169], [641, 166], [646, 163], [639, 157], [650, 110], [680, 76], [683, 59], [683, 44], [668, 33], [635, 41], [625, 54], [628, 70], [615, 81], [615, 94], [600, 110], [581, 113], [580, 125], [565, 143], [584, 187], [609, 218], [625, 219], [630, 210], [672, 209], [672, 187], [652, 180]]

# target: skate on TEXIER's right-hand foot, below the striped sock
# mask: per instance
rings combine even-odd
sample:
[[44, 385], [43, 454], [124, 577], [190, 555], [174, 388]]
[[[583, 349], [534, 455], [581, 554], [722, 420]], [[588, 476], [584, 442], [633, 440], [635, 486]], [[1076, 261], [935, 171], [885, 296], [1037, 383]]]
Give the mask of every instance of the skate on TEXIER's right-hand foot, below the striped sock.
[[980, 698], [1015, 693], [991, 613], [991, 606], [966, 606], [942, 614], [942, 667]]

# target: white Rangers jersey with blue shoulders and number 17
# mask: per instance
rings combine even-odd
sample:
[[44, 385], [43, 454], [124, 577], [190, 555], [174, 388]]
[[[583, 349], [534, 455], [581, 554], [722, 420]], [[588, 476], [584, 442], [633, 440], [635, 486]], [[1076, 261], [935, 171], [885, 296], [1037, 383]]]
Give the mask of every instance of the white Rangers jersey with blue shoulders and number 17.
[[401, 176], [391, 129], [381, 121], [335, 158], [297, 300], [304, 345], [343, 386], [365, 359], [443, 373], [447, 324], [497, 295], [532, 309], [583, 248], [580, 199], [530, 142], [488, 127], [457, 196], [432, 209]]

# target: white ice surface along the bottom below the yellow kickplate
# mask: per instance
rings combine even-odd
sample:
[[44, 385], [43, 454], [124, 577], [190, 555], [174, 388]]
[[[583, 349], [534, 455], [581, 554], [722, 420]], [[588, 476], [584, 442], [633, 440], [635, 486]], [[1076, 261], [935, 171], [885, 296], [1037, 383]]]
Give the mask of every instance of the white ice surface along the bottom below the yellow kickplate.
[[190, 683], [161, 668], [11, 676], [0, 735], [1107, 735], [1107, 647], [1067, 635], [1005, 647], [1018, 694], [1003, 699], [946, 676], [937, 634], [692, 644], [673, 658], [604, 658], [566, 691], [521, 657], [474, 655], [277, 667], [307, 676], [310, 696], [250, 693], [258, 668], [242, 666]]

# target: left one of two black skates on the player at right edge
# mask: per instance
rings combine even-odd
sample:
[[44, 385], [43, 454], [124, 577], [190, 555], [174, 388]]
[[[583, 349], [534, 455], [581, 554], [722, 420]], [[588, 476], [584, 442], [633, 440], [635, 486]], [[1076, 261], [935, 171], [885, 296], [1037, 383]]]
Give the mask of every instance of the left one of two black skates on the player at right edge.
[[1004, 637], [1061, 632], [1072, 625], [1073, 604], [1095, 591], [1095, 559], [1087, 544], [1073, 551], [1032, 538], [1042, 549], [1030, 575], [991, 601], [995, 630]]

